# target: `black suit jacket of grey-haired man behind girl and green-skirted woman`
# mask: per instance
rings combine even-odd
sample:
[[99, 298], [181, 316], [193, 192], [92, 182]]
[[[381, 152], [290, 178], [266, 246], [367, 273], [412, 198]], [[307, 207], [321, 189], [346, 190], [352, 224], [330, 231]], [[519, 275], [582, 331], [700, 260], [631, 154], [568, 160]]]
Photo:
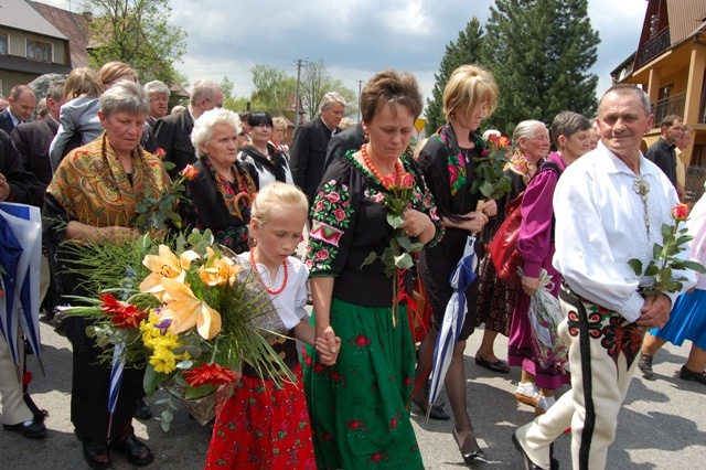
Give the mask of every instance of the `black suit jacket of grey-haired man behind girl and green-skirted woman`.
[[289, 149], [289, 168], [292, 179], [295, 184], [307, 194], [309, 203], [313, 201], [321, 177], [323, 177], [323, 163], [327, 159], [329, 140], [331, 140], [331, 130], [319, 116], [314, 120], [299, 126]]

